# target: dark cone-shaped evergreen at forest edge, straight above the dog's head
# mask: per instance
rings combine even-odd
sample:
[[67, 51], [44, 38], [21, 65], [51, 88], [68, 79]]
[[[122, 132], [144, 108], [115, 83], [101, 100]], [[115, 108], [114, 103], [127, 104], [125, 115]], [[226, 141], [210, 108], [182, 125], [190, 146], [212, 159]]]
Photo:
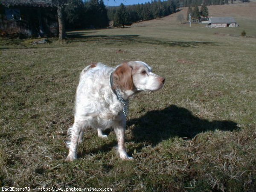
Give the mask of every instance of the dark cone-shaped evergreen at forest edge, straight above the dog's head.
[[129, 14], [126, 10], [126, 7], [123, 3], [119, 6], [119, 9], [117, 9], [115, 17], [114, 17], [114, 26], [123, 26], [125, 25], [131, 25]]

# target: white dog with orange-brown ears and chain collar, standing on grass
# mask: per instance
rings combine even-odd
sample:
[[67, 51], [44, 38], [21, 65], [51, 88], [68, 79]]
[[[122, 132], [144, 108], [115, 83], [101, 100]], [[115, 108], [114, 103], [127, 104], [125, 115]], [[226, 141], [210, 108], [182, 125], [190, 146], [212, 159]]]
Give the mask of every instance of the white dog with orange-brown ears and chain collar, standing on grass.
[[117, 152], [123, 160], [131, 160], [125, 151], [125, 124], [128, 99], [141, 91], [156, 91], [165, 79], [152, 73], [142, 61], [131, 61], [115, 68], [102, 63], [90, 64], [82, 70], [76, 90], [74, 124], [68, 129], [67, 161], [77, 158], [77, 146], [84, 131], [94, 128], [98, 136], [108, 137], [102, 131], [113, 128], [117, 137]]

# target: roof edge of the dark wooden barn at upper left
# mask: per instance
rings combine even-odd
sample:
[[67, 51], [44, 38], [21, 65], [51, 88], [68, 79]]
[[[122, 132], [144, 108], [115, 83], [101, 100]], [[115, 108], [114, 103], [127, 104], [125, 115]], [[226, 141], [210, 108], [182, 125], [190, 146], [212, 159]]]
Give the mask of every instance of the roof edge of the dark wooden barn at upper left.
[[9, 6], [32, 6], [49, 7], [53, 6], [52, 0], [1, 0], [0, 5]]

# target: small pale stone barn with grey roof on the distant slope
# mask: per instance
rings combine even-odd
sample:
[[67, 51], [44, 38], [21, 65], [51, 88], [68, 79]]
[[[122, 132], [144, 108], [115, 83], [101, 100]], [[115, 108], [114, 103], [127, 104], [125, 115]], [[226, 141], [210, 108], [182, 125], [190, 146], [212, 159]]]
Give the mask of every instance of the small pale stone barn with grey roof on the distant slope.
[[237, 27], [238, 24], [233, 17], [211, 17], [208, 21], [208, 27]]

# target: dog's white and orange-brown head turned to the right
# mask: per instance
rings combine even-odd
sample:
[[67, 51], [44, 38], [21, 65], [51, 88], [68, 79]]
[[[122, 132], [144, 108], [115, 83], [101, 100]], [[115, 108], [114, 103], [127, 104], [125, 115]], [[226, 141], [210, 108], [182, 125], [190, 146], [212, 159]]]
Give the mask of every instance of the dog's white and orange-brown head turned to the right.
[[122, 90], [156, 91], [163, 87], [165, 79], [152, 73], [151, 67], [142, 61], [123, 63], [113, 73], [115, 86]]

